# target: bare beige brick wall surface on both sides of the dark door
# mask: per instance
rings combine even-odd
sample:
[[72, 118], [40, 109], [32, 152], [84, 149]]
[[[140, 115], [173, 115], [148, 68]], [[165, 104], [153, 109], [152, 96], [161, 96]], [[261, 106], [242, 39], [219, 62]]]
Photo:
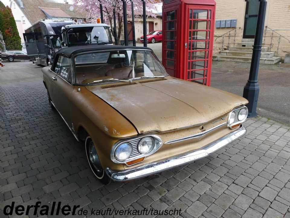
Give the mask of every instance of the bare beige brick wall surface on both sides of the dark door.
[[[245, 0], [215, 0], [216, 6], [216, 20], [237, 19], [237, 35], [235, 42], [241, 42], [243, 38], [243, 28], [245, 20], [246, 2]], [[257, 0], [258, 1], [258, 0]], [[276, 30], [280, 35], [290, 40], [290, 0], [267, 0], [267, 15], [266, 25], [272, 29], [288, 29]], [[215, 28], [214, 36], [218, 36], [232, 30], [234, 28]], [[234, 46], [234, 33], [231, 32], [230, 46]], [[271, 43], [272, 31], [267, 31], [265, 47]], [[280, 39], [279, 56], [282, 59], [285, 54], [290, 53], [290, 43], [284, 39]], [[279, 35], [274, 33], [272, 40], [272, 51], [277, 51]], [[222, 37], [214, 41], [214, 54], [226, 49], [228, 45], [228, 34], [224, 37], [224, 48], [222, 48]], [[237, 46], [237, 45], [235, 45]]]

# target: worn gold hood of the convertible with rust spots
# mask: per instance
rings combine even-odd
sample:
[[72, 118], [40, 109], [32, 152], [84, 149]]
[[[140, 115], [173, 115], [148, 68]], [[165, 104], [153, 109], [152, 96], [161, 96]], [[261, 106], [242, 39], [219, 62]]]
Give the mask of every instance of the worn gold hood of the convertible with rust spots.
[[139, 133], [204, 124], [247, 104], [235, 94], [170, 77], [142, 84], [136, 81], [86, 88], [119, 111]]

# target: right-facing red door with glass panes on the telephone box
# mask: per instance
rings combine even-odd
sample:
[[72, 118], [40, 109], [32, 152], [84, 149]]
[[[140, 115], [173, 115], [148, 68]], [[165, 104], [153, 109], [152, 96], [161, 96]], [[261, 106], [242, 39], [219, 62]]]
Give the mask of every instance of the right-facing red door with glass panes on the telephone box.
[[214, 6], [186, 5], [184, 78], [210, 85]]

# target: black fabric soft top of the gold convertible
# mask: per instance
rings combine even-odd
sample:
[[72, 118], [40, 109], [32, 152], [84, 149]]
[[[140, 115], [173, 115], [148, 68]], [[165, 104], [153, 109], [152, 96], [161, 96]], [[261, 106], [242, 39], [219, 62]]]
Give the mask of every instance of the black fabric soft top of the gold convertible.
[[82, 46], [74, 46], [74, 47], [67, 47], [62, 48], [58, 52], [54, 54], [54, 58], [58, 54], [64, 54], [68, 58], [72, 55], [84, 52], [84, 51], [100, 51], [100, 50], [121, 50], [121, 49], [146, 49], [152, 51], [151, 48], [148, 47], [135, 47], [135, 46], [121, 46], [121, 45], [82, 45]]

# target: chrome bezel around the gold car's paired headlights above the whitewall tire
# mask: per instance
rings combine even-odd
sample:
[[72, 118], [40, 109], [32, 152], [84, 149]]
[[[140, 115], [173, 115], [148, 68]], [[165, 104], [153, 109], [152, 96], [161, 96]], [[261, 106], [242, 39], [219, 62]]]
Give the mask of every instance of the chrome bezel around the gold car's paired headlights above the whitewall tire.
[[[141, 139], [143, 139], [145, 137], [153, 138], [154, 147], [147, 154], [141, 154], [138, 151], [138, 144], [141, 141]], [[120, 161], [120, 160], [117, 160], [117, 158], [115, 157], [115, 151], [121, 144], [124, 144], [124, 143], [130, 143], [132, 145], [133, 150], [131, 152], [131, 155], [126, 160]], [[120, 140], [120, 141], [116, 142], [111, 149], [111, 154], [110, 154], [111, 160], [114, 163], [127, 163], [131, 160], [136, 160], [136, 159], [141, 158], [141, 157], [147, 157], [147, 156], [155, 153], [162, 145], [163, 145], [163, 142], [162, 142], [161, 138], [155, 134], [146, 134], [146, 135], [141, 135], [141, 136], [136, 136], [136, 137]]]

